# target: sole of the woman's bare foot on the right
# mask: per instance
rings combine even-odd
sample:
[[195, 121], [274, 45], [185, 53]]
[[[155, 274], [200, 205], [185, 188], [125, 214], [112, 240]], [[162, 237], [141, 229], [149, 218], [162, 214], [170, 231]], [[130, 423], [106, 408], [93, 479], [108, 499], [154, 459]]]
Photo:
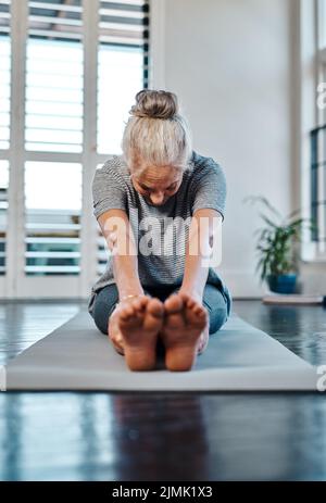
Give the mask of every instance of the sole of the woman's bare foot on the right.
[[168, 370], [190, 370], [208, 331], [208, 312], [186, 293], [172, 294], [164, 302], [165, 323], [161, 337]]

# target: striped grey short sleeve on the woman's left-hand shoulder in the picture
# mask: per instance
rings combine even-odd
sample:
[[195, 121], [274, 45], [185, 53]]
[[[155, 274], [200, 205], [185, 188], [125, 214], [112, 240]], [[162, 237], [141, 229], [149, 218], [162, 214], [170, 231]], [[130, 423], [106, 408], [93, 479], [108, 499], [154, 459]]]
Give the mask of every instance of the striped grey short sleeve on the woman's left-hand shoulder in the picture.
[[110, 161], [96, 169], [91, 189], [93, 214], [97, 218], [109, 210], [126, 210], [125, 183]]

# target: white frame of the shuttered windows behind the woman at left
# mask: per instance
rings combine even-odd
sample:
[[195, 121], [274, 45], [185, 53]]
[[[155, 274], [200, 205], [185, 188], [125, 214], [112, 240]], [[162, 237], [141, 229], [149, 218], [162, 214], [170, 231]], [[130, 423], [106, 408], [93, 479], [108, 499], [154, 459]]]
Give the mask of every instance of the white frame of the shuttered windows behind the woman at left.
[[[162, 0], [150, 2], [158, 10]], [[8, 150], [0, 159], [9, 161], [9, 210], [7, 221], [5, 266], [0, 277], [0, 294], [4, 298], [88, 298], [97, 277], [98, 224], [92, 213], [91, 181], [96, 167], [110, 154], [97, 152], [97, 71], [99, 43], [100, 0], [83, 0], [84, 48], [84, 118], [82, 153], [37, 152], [25, 150], [25, 75], [26, 42], [28, 37], [28, 1], [11, 0], [11, 137]], [[162, 9], [162, 7], [161, 7]], [[150, 37], [151, 14], [150, 14]], [[149, 40], [151, 51], [151, 40]], [[150, 56], [151, 61], [151, 56]], [[149, 72], [149, 83], [153, 76]], [[73, 162], [82, 164], [83, 198], [80, 214], [80, 273], [78, 276], [25, 275], [25, 208], [24, 166], [28, 161]]]

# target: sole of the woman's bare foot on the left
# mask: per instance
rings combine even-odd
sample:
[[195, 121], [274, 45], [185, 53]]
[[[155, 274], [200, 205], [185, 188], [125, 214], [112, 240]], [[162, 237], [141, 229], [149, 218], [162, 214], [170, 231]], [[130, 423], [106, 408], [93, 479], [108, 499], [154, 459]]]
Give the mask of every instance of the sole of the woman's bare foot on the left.
[[117, 327], [130, 370], [151, 370], [156, 364], [158, 334], [163, 325], [163, 304], [142, 297], [117, 309]]

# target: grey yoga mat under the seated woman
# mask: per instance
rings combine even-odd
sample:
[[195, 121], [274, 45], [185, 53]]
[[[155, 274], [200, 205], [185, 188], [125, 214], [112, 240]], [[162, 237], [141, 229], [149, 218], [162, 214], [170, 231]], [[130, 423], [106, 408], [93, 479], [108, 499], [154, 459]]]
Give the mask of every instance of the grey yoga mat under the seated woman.
[[236, 315], [213, 334], [191, 372], [130, 372], [86, 312], [7, 367], [8, 390], [315, 390], [313, 366]]

